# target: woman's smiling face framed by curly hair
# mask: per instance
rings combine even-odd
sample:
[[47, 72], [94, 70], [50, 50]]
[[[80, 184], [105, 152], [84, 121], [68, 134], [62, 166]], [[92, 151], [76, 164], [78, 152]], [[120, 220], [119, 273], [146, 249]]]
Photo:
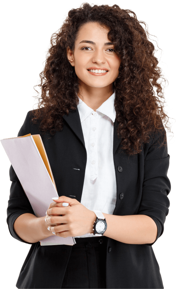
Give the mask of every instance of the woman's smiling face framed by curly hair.
[[[80, 84], [83, 82], [96, 88], [112, 87], [112, 83], [117, 78], [120, 59], [113, 50], [114, 46], [108, 40], [108, 31], [107, 28], [102, 28], [100, 24], [86, 23], [80, 29], [75, 41], [74, 55], [69, 48], [67, 49], [68, 60], [75, 67], [75, 73]], [[96, 75], [88, 71], [88, 69], [96, 68], [98, 70], [108, 70], [108, 72]]]

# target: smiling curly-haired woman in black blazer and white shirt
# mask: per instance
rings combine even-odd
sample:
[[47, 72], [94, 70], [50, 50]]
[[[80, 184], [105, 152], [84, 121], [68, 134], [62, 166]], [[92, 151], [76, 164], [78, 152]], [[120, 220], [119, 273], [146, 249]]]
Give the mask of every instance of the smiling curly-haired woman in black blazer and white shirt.
[[[168, 115], [140, 23], [116, 4], [83, 3], [53, 34], [42, 101], [18, 136], [41, 135], [59, 199], [37, 218], [10, 167], [9, 231], [31, 244], [19, 289], [164, 288], [152, 245], [170, 205]], [[53, 234], [76, 244], [40, 246]]]

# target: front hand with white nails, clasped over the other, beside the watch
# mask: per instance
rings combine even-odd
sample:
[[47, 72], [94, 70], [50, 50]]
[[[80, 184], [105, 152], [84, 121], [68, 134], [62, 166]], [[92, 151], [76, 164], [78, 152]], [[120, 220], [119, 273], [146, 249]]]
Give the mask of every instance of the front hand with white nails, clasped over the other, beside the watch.
[[[96, 218], [94, 212], [77, 200], [66, 196], [60, 196], [54, 201], [56, 205], [47, 210], [46, 222], [49, 224], [63, 223], [63, 225], [49, 226], [51, 232], [64, 238], [93, 233], [93, 224]], [[69, 206], [61, 207], [63, 202], [68, 203]]]

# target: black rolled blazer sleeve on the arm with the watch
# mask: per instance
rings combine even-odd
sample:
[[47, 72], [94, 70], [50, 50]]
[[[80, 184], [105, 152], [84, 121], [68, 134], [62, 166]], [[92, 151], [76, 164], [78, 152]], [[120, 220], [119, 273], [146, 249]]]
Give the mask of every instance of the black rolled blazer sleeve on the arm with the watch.
[[149, 216], [157, 226], [156, 240], [151, 244], [145, 244], [148, 246], [155, 244], [163, 234], [165, 220], [169, 214], [168, 195], [171, 191], [171, 183], [167, 173], [170, 155], [164, 134], [166, 135], [166, 132], [160, 136], [157, 132], [154, 134], [144, 160], [142, 198], [137, 214]]

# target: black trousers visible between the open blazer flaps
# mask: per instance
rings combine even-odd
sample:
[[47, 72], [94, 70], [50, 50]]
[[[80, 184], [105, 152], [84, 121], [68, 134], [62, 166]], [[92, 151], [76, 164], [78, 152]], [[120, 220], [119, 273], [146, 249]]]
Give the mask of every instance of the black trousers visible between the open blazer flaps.
[[75, 238], [61, 288], [106, 288], [106, 236]]

